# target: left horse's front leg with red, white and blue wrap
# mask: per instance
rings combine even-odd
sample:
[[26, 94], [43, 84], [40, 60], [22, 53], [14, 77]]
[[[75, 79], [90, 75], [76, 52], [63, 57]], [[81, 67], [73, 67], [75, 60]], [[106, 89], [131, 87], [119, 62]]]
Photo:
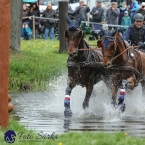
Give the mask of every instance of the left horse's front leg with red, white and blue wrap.
[[71, 78], [68, 78], [67, 88], [65, 90], [65, 99], [64, 99], [65, 117], [72, 117], [72, 111], [70, 109], [70, 94], [74, 87], [75, 87], [75, 83], [71, 80]]

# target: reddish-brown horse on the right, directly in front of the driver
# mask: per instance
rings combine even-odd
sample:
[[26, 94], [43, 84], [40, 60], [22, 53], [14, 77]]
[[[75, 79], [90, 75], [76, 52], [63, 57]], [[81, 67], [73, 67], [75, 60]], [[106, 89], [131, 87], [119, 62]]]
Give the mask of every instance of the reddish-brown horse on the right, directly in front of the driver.
[[102, 47], [103, 65], [110, 69], [112, 76], [112, 104], [116, 106], [117, 91], [122, 85], [122, 80], [126, 80], [126, 87], [129, 89], [133, 89], [141, 82], [144, 94], [145, 53], [138, 51], [133, 46], [126, 47], [118, 33], [116, 33], [115, 38], [104, 37], [98, 41], [97, 45]]

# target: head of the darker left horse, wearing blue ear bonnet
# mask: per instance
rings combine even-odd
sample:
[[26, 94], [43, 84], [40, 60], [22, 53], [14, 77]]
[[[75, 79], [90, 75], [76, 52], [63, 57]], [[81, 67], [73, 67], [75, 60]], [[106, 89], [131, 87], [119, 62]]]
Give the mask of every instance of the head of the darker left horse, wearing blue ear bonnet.
[[83, 32], [80, 27], [81, 18], [78, 21], [71, 21], [66, 16], [66, 21], [68, 23], [68, 30], [65, 32], [65, 38], [67, 38], [68, 49], [67, 52], [71, 56], [76, 56], [78, 52], [78, 46], [80, 44], [81, 39], [83, 38]]

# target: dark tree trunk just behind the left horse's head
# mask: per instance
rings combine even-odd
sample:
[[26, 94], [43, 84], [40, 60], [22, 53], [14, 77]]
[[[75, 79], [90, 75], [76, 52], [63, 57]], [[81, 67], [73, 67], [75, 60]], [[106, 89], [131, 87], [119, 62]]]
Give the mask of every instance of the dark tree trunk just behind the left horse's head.
[[66, 15], [68, 14], [68, 2], [60, 1], [59, 2], [59, 43], [60, 48], [59, 52], [67, 50], [66, 38], [64, 33], [67, 29]]

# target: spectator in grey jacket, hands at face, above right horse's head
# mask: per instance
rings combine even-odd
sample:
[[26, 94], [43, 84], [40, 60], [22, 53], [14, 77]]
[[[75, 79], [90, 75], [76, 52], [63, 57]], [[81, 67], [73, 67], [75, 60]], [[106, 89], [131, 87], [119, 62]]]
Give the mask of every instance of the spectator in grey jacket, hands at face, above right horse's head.
[[[119, 16], [120, 12], [119, 9], [116, 8], [116, 3], [112, 2], [111, 3], [111, 8], [109, 8], [106, 11], [106, 21], [107, 24], [112, 24], [112, 25], [118, 25], [118, 16]], [[115, 29], [115, 27], [109, 26], [109, 30], [111, 29]]]

